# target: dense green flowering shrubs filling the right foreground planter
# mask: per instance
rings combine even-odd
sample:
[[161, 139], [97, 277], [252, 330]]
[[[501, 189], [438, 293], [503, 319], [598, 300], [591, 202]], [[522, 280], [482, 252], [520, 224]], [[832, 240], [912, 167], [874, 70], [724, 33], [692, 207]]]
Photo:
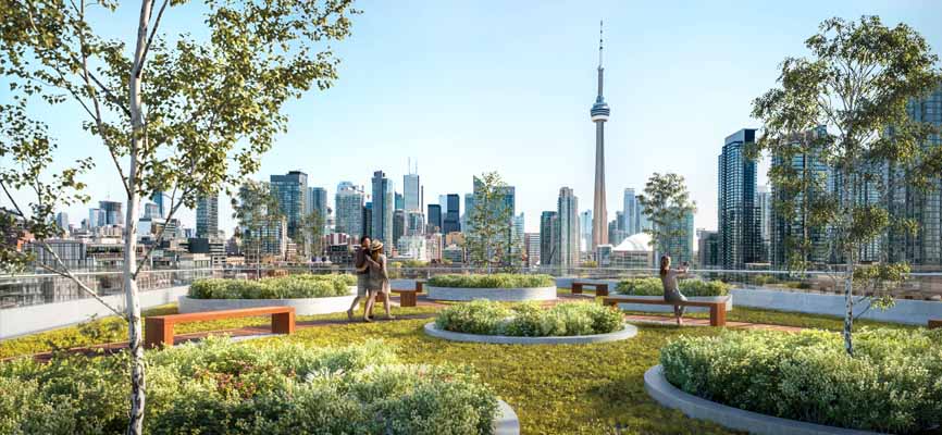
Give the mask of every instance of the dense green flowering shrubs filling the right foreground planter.
[[690, 394], [832, 426], [918, 433], [942, 424], [942, 330], [867, 330], [855, 356], [840, 334], [726, 332], [660, 351], [667, 380]]

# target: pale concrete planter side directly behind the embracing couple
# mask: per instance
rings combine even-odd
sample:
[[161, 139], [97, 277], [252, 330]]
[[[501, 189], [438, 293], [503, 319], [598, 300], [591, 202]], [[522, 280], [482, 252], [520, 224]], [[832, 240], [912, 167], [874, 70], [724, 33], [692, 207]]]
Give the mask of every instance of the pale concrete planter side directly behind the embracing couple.
[[194, 299], [181, 296], [178, 310], [185, 314], [203, 311], [238, 310], [240, 308], [294, 307], [296, 315], [330, 314], [347, 311], [356, 297], [356, 286], [350, 287], [350, 295], [348, 296], [332, 296], [326, 298]]

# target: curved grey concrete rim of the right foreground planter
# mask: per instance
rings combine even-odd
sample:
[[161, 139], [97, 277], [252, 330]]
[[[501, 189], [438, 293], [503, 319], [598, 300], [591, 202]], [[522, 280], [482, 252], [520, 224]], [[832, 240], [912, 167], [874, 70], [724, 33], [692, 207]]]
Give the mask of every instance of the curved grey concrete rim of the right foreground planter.
[[660, 365], [644, 373], [644, 389], [661, 406], [680, 410], [690, 418], [756, 435], [877, 435], [877, 432], [782, 419], [717, 403], [671, 385]]

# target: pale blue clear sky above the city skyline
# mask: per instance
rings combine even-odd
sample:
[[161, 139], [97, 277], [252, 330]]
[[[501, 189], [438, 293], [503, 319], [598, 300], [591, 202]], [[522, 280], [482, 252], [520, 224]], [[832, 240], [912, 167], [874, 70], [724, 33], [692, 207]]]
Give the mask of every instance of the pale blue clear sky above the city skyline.
[[[138, 5], [100, 16], [102, 33], [128, 45]], [[942, 48], [938, 1], [361, 1], [352, 35], [335, 42], [339, 78], [284, 108], [287, 133], [261, 157], [253, 178], [300, 170], [331, 198], [342, 181], [367, 186], [386, 172], [402, 189], [418, 163], [425, 203], [463, 194], [472, 176], [497, 171], [517, 188], [528, 232], [555, 210], [559, 188], [592, 209], [598, 24], [605, 21], [608, 219], [625, 188], [652, 173], [686, 178], [694, 225], [717, 225], [717, 156], [726, 136], [760, 127], [752, 101], [776, 86], [779, 63], [806, 54], [804, 40], [831, 16], [876, 14], [904, 22]], [[169, 34], [200, 35], [198, 8], [170, 8]], [[5, 91], [0, 89], [0, 91]], [[0, 98], [3, 97], [0, 94]], [[120, 199], [107, 151], [80, 129], [78, 108], [35, 108], [60, 138], [65, 161], [91, 156], [92, 203], [66, 210], [78, 224], [88, 207]], [[3, 162], [0, 162], [2, 164]], [[767, 163], [759, 166], [766, 182]], [[234, 226], [221, 198], [220, 227]], [[463, 201], [462, 201], [463, 212]], [[187, 226], [195, 213], [184, 211]]]

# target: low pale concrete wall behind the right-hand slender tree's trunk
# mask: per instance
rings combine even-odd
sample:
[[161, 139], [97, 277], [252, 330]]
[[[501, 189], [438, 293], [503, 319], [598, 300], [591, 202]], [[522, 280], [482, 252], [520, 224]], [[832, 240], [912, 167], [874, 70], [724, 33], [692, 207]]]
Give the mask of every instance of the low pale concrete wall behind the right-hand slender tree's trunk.
[[[843, 316], [845, 310], [843, 295], [769, 288], [734, 288], [730, 293], [736, 297], [736, 304], [741, 307], [835, 316]], [[859, 303], [854, 312], [860, 312], [865, 308], [867, 302]], [[863, 319], [925, 326], [930, 319], [942, 319], [942, 301], [896, 299], [896, 304], [889, 310], [871, 309], [864, 313]]]

